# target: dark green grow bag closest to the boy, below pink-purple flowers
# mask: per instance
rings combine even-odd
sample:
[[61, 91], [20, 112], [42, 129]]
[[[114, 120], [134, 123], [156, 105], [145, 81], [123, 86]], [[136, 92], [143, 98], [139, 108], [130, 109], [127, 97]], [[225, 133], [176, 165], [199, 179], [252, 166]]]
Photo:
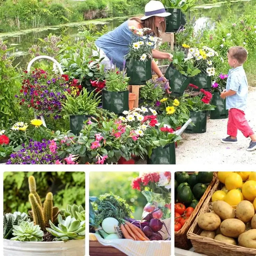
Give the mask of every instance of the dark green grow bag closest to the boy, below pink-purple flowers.
[[211, 104], [216, 108], [210, 112], [211, 119], [224, 119], [228, 117], [228, 110], [226, 109], [226, 99], [220, 97], [220, 93], [212, 93]]

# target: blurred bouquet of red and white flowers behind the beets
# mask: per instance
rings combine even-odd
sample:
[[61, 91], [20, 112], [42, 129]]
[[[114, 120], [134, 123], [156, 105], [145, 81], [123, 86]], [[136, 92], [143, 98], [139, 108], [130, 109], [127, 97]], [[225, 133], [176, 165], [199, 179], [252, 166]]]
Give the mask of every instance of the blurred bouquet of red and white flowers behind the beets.
[[131, 186], [147, 199], [142, 218], [149, 213], [159, 219], [171, 217], [171, 172], [143, 173], [132, 180]]

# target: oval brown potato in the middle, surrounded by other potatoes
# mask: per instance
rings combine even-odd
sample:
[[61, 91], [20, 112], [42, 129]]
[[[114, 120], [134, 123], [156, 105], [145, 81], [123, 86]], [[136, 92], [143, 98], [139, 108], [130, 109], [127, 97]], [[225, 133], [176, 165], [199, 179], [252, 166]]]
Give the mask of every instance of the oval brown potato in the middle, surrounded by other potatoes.
[[225, 219], [221, 223], [221, 233], [226, 237], [239, 237], [245, 231], [245, 224], [240, 219]]

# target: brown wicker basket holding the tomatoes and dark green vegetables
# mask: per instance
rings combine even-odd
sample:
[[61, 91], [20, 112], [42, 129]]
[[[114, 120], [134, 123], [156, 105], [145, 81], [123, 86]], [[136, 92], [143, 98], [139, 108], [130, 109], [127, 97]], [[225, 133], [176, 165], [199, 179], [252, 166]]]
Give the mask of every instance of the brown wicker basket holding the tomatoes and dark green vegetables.
[[[215, 186], [216, 181], [217, 181], [217, 174], [214, 173], [212, 182], [209, 184], [209, 186], [205, 190], [203, 196], [201, 197], [201, 199], [200, 199], [199, 203], [197, 204], [195, 210], [190, 215], [188, 221], [184, 224], [184, 226], [179, 231], [174, 232], [175, 247], [179, 247], [179, 248], [185, 249], [185, 250], [192, 247], [191, 242], [187, 238], [187, 232], [189, 230], [189, 227], [191, 226], [191, 223], [194, 222], [194, 219], [196, 218], [197, 213], [201, 209], [204, 201], [209, 198], [210, 194], [212, 195], [212, 193], [210, 193], [210, 192], [212, 191], [213, 187]], [[211, 195], [210, 195], [210, 198], [211, 198]]]

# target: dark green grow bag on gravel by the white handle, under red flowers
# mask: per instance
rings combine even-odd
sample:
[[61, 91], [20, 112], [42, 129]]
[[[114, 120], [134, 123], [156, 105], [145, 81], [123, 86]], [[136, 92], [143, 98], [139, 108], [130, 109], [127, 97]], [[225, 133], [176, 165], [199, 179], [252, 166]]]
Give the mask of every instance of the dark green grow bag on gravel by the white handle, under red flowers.
[[207, 111], [190, 111], [190, 118], [192, 119], [192, 124], [189, 124], [185, 129], [187, 133], [204, 133], [206, 132], [206, 120]]

